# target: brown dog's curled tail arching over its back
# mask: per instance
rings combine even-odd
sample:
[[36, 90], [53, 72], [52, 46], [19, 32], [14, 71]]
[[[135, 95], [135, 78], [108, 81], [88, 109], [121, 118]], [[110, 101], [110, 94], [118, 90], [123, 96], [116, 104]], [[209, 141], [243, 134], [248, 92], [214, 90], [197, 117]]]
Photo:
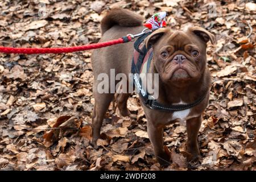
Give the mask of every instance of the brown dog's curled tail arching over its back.
[[101, 34], [103, 35], [114, 25], [135, 27], [140, 26], [143, 21], [143, 16], [136, 14], [133, 11], [115, 8], [110, 10], [109, 13], [101, 20]]

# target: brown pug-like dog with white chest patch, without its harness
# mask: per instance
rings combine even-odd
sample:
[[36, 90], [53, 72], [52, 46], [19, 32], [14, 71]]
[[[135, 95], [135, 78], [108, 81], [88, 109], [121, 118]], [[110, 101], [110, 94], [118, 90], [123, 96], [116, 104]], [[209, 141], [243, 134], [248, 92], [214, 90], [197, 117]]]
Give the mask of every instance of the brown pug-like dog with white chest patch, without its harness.
[[[129, 10], [113, 9], [101, 21], [102, 38], [100, 42], [118, 39], [127, 34], [138, 34], [144, 27], [143, 17]], [[200, 155], [197, 134], [201, 125], [202, 113], [208, 105], [210, 73], [207, 68], [207, 42], [214, 41], [214, 36], [200, 27], [191, 27], [187, 31], [174, 31], [171, 28], [160, 28], [145, 39], [146, 46], [151, 45], [154, 56], [149, 73], [159, 73], [159, 97], [157, 101], [165, 105], [191, 104], [203, 97], [196, 106], [175, 112], [163, 112], [143, 106], [147, 118], [147, 133], [154, 147], [158, 162], [168, 165], [170, 156], [163, 146], [163, 127], [177, 121], [187, 123], [187, 151], [192, 159]], [[92, 54], [94, 74], [93, 96], [95, 105], [92, 115], [93, 138], [96, 147], [100, 138], [102, 120], [108, 110], [114, 93], [98, 93], [100, 73], [110, 77], [110, 69], [118, 73], [131, 73], [133, 59], [133, 42], [96, 49]], [[117, 84], [117, 81], [114, 82]], [[110, 84], [109, 88], [113, 86]], [[110, 91], [110, 90], [109, 90]], [[123, 116], [134, 117], [127, 109], [129, 93], [118, 94], [115, 98], [119, 112]]]

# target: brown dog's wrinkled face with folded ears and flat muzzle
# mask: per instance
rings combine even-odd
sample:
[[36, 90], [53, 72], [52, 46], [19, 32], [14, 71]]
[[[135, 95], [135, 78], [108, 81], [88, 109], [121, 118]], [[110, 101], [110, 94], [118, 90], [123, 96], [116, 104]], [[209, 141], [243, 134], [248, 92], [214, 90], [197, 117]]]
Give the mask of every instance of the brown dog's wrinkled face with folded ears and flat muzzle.
[[200, 27], [187, 31], [171, 31], [160, 28], [145, 40], [154, 49], [154, 65], [164, 82], [177, 86], [197, 81], [206, 65], [207, 42], [214, 36]]

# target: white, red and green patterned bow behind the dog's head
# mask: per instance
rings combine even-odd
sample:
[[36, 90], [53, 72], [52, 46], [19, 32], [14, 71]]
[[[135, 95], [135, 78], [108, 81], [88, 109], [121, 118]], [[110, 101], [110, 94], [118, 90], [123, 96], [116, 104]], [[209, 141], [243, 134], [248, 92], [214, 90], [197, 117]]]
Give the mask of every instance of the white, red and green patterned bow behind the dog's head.
[[166, 12], [163, 11], [152, 15], [143, 25], [150, 30], [166, 27]]

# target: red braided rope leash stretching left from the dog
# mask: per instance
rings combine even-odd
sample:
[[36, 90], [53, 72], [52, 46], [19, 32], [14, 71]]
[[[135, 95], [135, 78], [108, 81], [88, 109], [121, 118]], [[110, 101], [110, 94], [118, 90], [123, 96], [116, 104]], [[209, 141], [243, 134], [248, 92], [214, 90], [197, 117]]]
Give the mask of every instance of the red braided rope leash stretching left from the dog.
[[75, 47], [56, 47], [56, 48], [14, 48], [14, 47], [0, 47], [2, 53], [22, 53], [22, 54], [34, 54], [34, 53], [67, 53], [86, 51], [89, 49], [97, 49], [101, 47], [113, 46], [115, 44], [127, 43], [134, 40], [133, 35], [123, 36], [122, 38], [110, 40], [108, 42], [101, 42], [95, 44], [89, 44], [86, 46]]

